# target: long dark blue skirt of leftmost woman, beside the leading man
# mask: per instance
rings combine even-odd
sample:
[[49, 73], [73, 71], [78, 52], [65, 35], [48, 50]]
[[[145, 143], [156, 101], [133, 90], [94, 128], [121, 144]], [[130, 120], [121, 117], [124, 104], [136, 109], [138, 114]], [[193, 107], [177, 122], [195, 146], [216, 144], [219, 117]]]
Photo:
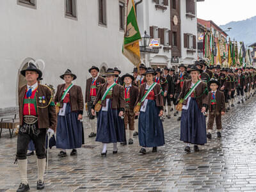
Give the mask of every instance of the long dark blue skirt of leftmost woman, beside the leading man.
[[72, 112], [67, 103], [65, 116], [58, 115], [56, 148], [72, 149], [82, 146], [82, 123], [77, 118], [78, 113]]

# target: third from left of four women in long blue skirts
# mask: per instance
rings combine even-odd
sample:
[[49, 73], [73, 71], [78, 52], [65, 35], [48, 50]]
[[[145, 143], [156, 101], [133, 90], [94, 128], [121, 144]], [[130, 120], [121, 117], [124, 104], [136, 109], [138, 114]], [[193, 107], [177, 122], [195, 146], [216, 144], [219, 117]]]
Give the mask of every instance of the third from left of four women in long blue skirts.
[[160, 118], [164, 109], [163, 95], [161, 95], [161, 85], [154, 83], [154, 73], [149, 67], [143, 74], [147, 83], [141, 84], [136, 101], [137, 106], [141, 106], [139, 116], [141, 154], [146, 154], [146, 147], [152, 147], [152, 152], [157, 152], [157, 147], [164, 145], [164, 129]]

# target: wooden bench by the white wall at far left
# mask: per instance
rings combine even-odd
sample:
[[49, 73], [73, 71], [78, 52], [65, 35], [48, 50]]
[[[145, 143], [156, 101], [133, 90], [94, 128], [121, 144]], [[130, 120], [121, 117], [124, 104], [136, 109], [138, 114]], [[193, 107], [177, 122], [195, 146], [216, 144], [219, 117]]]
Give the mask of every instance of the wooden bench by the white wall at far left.
[[[10, 115], [12, 114], [12, 115]], [[3, 117], [1, 118], [1, 121], [0, 121], [0, 138], [1, 138], [1, 134], [2, 134], [2, 131], [3, 129], [9, 129], [9, 132], [10, 132], [10, 138], [12, 138], [13, 136], [13, 131], [15, 129], [17, 129], [17, 127], [19, 126], [19, 119], [16, 118], [16, 110], [13, 110], [11, 112], [9, 112], [10, 116], [13, 116], [13, 117]], [[3, 116], [3, 115], [2, 115]]]

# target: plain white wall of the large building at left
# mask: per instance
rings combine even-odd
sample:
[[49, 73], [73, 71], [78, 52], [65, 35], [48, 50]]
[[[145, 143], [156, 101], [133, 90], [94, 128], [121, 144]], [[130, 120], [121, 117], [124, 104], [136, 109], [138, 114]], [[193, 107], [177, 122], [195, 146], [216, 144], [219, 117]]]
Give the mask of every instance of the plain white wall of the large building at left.
[[42, 83], [55, 88], [67, 68], [77, 74], [74, 83], [83, 90], [92, 65], [132, 72], [133, 65], [122, 55], [118, 8], [118, 1], [107, 1], [108, 26], [102, 27], [95, 0], [77, 0], [77, 20], [65, 17], [64, 0], [37, 0], [36, 9], [16, 0], [0, 1], [0, 108], [17, 106], [17, 77], [26, 58], [45, 61]]

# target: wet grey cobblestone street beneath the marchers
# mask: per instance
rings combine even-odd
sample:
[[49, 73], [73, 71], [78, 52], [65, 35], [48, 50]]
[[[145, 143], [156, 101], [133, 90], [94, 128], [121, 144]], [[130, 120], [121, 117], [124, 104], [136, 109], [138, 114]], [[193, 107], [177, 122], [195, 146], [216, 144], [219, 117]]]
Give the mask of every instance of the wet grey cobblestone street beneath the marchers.
[[[101, 157], [101, 143], [89, 139], [90, 129], [84, 124], [86, 145], [77, 157], [58, 157], [53, 148], [44, 191], [256, 191], [256, 102], [232, 108], [223, 118], [223, 138], [216, 132], [200, 152], [184, 152], [179, 141], [177, 117], [164, 120], [165, 145], [152, 154], [139, 154], [138, 137], [133, 145], [107, 157]], [[17, 136], [0, 138], [0, 191], [15, 191], [20, 183], [15, 160]], [[67, 151], [68, 154], [70, 150]], [[36, 156], [28, 157], [28, 180], [35, 191]]]

